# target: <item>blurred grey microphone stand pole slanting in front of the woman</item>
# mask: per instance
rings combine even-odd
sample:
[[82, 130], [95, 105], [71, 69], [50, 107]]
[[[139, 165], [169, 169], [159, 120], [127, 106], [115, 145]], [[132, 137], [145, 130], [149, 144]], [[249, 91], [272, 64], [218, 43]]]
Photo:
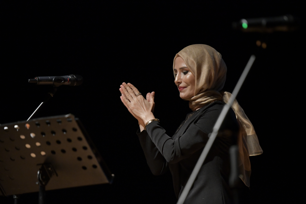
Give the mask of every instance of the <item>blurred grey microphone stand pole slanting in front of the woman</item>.
[[255, 60], [255, 55], [252, 55], [251, 58], [249, 59], [247, 65], [245, 66], [238, 82], [237, 82], [237, 85], [235, 86], [235, 89], [233, 90], [233, 93], [232, 93], [232, 96], [230, 97], [229, 101], [227, 104], [225, 104], [225, 106], [223, 107], [218, 119], [217, 119], [217, 122], [215, 123], [215, 126], [213, 128], [213, 131], [207, 141], [207, 144], [205, 145], [204, 149], [203, 149], [203, 152], [201, 153], [200, 157], [199, 157], [199, 160], [197, 161], [196, 163], [196, 166], [194, 167], [189, 179], [188, 179], [188, 182], [186, 183], [186, 186], [180, 196], [180, 198], [178, 199], [177, 201], [177, 204], [183, 204], [187, 195], [188, 195], [188, 192], [190, 191], [190, 188], [194, 182], [194, 180], [196, 179], [196, 176], [198, 175], [199, 171], [200, 171], [200, 168], [202, 167], [203, 165], [203, 162], [212, 146], [212, 144], [214, 143], [215, 141], [215, 138], [217, 137], [217, 134], [218, 134], [218, 131], [220, 129], [220, 126], [227, 114], [227, 112], [229, 111], [229, 109], [231, 108], [240, 88], [241, 88], [241, 85], [243, 84], [244, 82], [244, 79], [245, 77], [248, 75], [248, 72], [249, 70], [251, 69], [251, 66], [253, 64]]

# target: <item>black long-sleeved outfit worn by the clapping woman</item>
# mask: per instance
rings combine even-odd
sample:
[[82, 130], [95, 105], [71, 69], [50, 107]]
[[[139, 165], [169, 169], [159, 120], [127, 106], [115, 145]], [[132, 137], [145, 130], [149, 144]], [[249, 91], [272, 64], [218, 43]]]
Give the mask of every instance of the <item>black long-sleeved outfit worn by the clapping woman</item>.
[[[142, 132], [137, 131], [151, 172], [161, 175], [170, 169], [177, 198], [184, 189], [224, 105], [222, 101], [215, 101], [187, 114], [186, 120], [172, 138], [157, 121], [151, 122]], [[238, 130], [235, 113], [230, 108], [185, 203], [231, 203], [232, 195], [228, 184], [229, 148]]]

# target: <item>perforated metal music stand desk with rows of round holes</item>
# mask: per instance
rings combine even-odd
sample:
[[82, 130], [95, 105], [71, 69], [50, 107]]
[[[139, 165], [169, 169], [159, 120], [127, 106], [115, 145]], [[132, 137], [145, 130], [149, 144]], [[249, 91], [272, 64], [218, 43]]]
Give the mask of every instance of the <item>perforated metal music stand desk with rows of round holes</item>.
[[111, 183], [114, 176], [74, 115], [0, 125], [0, 195], [37, 192], [46, 163], [57, 173], [46, 190]]

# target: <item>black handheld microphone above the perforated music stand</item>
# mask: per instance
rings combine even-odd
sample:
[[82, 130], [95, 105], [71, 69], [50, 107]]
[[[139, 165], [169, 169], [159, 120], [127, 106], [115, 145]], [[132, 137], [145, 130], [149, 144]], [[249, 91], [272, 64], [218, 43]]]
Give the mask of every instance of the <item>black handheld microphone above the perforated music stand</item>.
[[58, 77], [35, 77], [34, 79], [29, 79], [28, 82], [36, 83], [37, 85], [78, 86], [83, 83], [83, 77], [75, 74], [58, 76]]

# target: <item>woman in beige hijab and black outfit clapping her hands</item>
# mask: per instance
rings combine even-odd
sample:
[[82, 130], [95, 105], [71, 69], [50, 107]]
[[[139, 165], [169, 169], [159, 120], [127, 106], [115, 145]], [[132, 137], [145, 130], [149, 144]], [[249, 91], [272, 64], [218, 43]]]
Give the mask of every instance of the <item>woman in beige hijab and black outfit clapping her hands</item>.
[[[226, 80], [226, 70], [221, 54], [208, 45], [190, 45], [175, 55], [174, 83], [180, 97], [189, 101], [192, 112], [187, 114], [172, 137], [166, 134], [153, 115], [154, 92], [147, 93], [146, 100], [130, 83], [122, 83], [119, 89], [122, 103], [138, 119], [140, 130], [137, 134], [147, 164], [154, 175], [161, 175], [170, 169], [177, 198], [231, 95], [220, 92]], [[235, 143], [239, 145], [240, 178], [249, 186], [251, 166], [248, 156], [261, 154], [262, 149], [252, 123], [237, 100], [224, 119], [185, 203], [216, 204], [232, 201], [228, 184], [229, 148]]]

